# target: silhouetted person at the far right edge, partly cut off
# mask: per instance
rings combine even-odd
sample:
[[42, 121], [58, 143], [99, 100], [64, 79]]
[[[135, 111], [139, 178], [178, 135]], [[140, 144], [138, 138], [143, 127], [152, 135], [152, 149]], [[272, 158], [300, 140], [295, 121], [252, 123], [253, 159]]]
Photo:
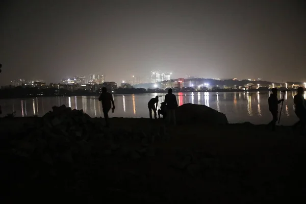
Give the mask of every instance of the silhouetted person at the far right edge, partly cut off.
[[299, 121], [293, 125], [295, 129], [296, 126], [301, 125], [300, 133], [305, 134], [305, 125], [306, 125], [306, 101], [303, 97], [304, 89], [303, 87], [297, 88], [297, 94], [293, 97], [295, 104], [295, 114], [299, 118]]

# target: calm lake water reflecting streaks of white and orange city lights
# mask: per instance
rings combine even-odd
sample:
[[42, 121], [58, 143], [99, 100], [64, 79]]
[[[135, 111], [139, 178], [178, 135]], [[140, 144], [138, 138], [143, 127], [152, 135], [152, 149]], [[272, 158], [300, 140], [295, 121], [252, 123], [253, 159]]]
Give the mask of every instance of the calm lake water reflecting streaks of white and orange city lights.
[[[209, 106], [226, 115], [230, 123], [249, 121], [254, 124], [268, 123], [272, 116], [268, 108], [269, 92], [189, 92], [175, 93], [179, 105], [192, 103]], [[291, 125], [298, 119], [294, 113], [293, 96], [296, 92], [287, 92], [282, 111], [281, 124]], [[164, 101], [165, 93], [114, 95], [115, 113], [110, 117], [149, 117], [147, 103], [156, 95], [160, 103]], [[282, 98], [283, 93], [278, 93]], [[305, 94], [304, 94], [305, 97]], [[98, 96], [71, 97], [35, 97], [25, 99], [2, 99], [3, 115], [16, 111], [16, 116], [43, 116], [52, 110], [53, 106], [65, 104], [72, 109], [83, 109], [91, 117], [103, 117]], [[159, 106], [160, 106], [159, 103]], [[279, 110], [281, 104], [279, 104]]]

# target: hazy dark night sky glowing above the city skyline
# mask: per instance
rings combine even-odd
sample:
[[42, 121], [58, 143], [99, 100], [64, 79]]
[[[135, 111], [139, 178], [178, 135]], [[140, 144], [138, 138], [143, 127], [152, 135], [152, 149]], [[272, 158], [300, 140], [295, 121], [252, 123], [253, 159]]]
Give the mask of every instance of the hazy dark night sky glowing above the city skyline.
[[0, 84], [90, 73], [120, 82], [151, 69], [303, 82], [305, 2], [3, 0]]

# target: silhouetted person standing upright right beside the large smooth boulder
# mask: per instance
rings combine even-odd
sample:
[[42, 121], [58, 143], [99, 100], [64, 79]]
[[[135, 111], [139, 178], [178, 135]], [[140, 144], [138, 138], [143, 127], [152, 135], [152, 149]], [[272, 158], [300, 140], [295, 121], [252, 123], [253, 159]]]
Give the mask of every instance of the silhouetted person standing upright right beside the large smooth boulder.
[[177, 108], [177, 101], [176, 96], [172, 93], [172, 89], [168, 90], [168, 94], [165, 96], [165, 104], [167, 108], [167, 121], [169, 124], [171, 124], [171, 120], [173, 121], [173, 124], [175, 125], [175, 109]]

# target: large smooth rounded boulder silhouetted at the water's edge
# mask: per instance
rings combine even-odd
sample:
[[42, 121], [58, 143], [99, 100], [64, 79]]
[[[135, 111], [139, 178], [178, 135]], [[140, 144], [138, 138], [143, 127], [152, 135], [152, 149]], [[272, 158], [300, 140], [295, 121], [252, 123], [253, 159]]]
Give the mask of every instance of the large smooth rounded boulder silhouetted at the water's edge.
[[227, 124], [225, 114], [220, 113], [205, 105], [184, 104], [179, 106], [176, 113], [178, 124], [186, 123], [206, 123], [206, 124]]

